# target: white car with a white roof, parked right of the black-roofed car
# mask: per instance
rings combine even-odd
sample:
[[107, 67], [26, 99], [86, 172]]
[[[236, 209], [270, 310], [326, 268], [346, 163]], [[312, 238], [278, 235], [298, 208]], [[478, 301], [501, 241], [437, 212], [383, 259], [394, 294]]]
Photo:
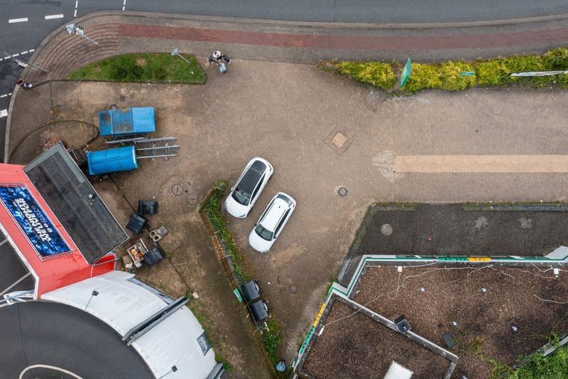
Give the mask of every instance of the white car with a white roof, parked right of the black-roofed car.
[[249, 244], [258, 252], [268, 252], [278, 235], [282, 233], [284, 225], [288, 223], [296, 201], [283, 192], [276, 193], [268, 206], [254, 224], [249, 235]]

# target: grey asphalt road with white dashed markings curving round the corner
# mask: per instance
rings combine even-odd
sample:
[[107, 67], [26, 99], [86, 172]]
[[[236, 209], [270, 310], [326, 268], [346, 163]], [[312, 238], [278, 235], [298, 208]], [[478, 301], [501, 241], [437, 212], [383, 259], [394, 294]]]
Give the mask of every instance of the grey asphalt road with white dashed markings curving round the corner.
[[289, 21], [344, 23], [440, 23], [567, 14], [562, 0], [0, 0], [0, 156], [6, 110], [22, 69], [55, 28], [94, 11], [146, 11]]

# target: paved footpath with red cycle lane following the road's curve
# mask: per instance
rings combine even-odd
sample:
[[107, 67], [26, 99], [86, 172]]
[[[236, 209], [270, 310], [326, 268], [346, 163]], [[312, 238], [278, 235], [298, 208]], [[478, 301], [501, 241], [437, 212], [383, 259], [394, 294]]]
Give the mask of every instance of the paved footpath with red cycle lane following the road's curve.
[[[219, 49], [231, 58], [285, 63], [329, 59], [447, 60], [515, 53], [542, 53], [568, 45], [568, 15], [445, 24], [346, 24], [258, 21], [165, 14], [99, 12], [76, 20], [95, 46], [63, 27], [35, 50], [26, 80], [39, 84], [63, 79], [76, 68], [117, 53], [170, 51], [180, 48], [200, 58]], [[21, 90], [16, 88], [13, 102]], [[33, 117], [33, 115], [31, 115]], [[32, 120], [30, 120], [32, 121]], [[43, 120], [38, 120], [43, 121]], [[6, 127], [4, 161], [28, 134]], [[12, 129], [12, 130], [11, 130]]]

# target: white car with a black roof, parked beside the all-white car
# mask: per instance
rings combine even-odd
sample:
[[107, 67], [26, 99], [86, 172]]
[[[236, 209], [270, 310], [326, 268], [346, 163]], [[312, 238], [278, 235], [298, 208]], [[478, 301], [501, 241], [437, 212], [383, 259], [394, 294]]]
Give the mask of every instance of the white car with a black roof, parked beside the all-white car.
[[272, 165], [266, 159], [258, 156], [251, 159], [226, 197], [226, 211], [236, 218], [246, 218], [273, 172]]

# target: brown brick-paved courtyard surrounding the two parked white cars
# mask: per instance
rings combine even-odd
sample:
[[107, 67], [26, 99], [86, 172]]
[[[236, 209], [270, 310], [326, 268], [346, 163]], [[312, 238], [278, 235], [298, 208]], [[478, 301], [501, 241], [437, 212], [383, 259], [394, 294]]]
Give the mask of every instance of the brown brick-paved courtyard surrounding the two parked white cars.
[[[113, 178], [131, 204], [160, 201], [155, 221], [169, 227], [165, 247], [191, 257], [193, 265], [181, 270], [198, 289], [215, 280], [200, 267], [207, 235], [197, 226], [195, 202], [172, 196], [170, 187], [183, 183], [187, 194], [202, 197], [217, 179], [234, 181], [252, 156], [271, 161], [275, 174], [249, 218], [229, 220], [283, 322], [283, 355], [291, 361], [370, 203], [567, 200], [563, 173], [395, 174], [397, 156], [567, 154], [567, 100], [567, 92], [554, 90], [483, 89], [386, 98], [311, 65], [234, 60], [226, 75], [210, 70], [202, 86], [41, 85], [16, 99], [12, 123], [25, 123], [28, 109], [43, 112], [45, 122], [97, 124], [96, 112], [112, 104], [156, 107], [156, 134], [178, 137], [181, 155]], [[342, 141], [337, 132], [346, 138], [342, 146], [330, 141]], [[13, 136], [24, 149], [14, 156], [25, 161], [35, 146], [26, 147], [16, 130]], [[343, 198], [339, 186], [347, 188]], [[260, 255], [247, 237], [277, 191], [293, 196], [297, 208], [271, 252]]]

